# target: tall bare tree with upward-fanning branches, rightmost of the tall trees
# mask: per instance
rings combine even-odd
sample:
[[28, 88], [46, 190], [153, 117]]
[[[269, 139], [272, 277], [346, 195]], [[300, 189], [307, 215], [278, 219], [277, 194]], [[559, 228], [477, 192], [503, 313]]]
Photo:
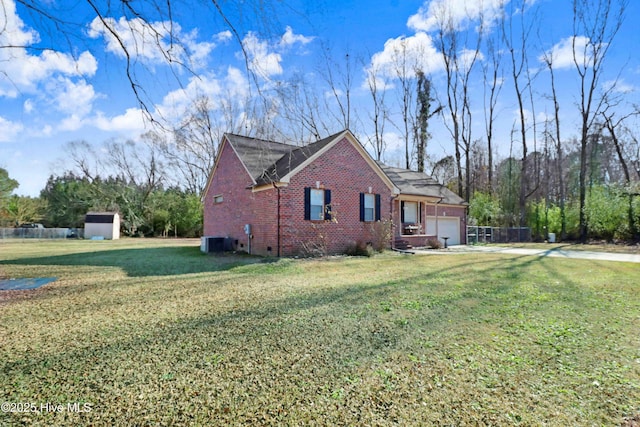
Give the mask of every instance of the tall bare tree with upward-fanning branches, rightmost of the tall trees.
[[[573, 62], [580, 84], [580, 239], [587, 239], [585, 215], [589, 136], [600, 115], [605, 94], [599, 94], [607, 53], [624, 21], [628, 0], [573, 0]], [[605, 92], [611, 92], [610, 85]]]

